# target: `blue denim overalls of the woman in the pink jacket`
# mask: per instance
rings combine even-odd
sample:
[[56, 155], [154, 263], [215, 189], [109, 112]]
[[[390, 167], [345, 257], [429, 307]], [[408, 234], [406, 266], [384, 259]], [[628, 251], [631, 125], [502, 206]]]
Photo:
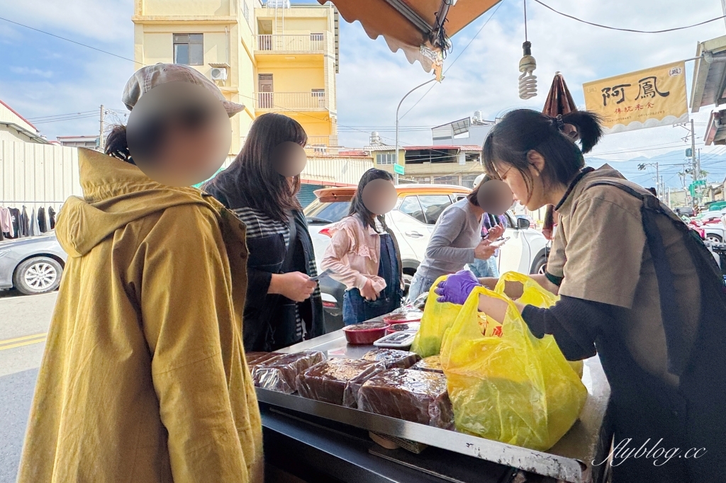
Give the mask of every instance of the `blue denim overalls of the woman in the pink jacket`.
[[386, 281], [386, 288], [376, 300], [365, 300], [359, 289], [346, 290], [343, 294], [343, 323], [349, 326], [361, 323], [379, 315], [385, 315], [401, 307], [401, 281], [396, 247], [391, 235], [380, 234], [380, 260], [378, 276]]

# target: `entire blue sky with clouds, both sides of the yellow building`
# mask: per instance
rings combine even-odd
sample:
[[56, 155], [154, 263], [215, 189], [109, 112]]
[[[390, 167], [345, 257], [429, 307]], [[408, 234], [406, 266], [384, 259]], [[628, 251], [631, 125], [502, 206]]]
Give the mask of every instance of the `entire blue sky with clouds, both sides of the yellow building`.
[[[688, 25], [723, 15], [719, 0], [544, 1], [586, 20], [643, 30]], [[0, 4], [0, 17], [133, 58], [133, 0], [0, 0]], [[475, 110], [489, 119], [517, 107], [539, 110], [558, 70], [575, 102], [582, 106], [582, 83], [693, 57], [698, 41], [726, 33], [722, 20], [658, 35], [616, 32], [568, 20], [529, 1], [529, 40], [537, 59], [539, 96], [522, 101], [517, 93], [524, 40], [522, 2], [504, 0], [474, 38], [491, 12], [452, 38], [454, 49], [445, 69], [471, 44], [446, 73], [444, 82], [436, 84], [402, 118], [401, 144], [430, 144], [428, 128], [472, 115]], [[692, 69], [693, 62], [688, 62], [689, 95]], [[133, 71], [133, 62], [0, 20], [0, 99], [31, 121], [41, 116], [89, 112], [89, 117], [63, 122], [38, 121], [37, 127], [49, 139], [97, 132], [98, 118], [91, 111], [98, 110], [100, 104], [123, 112], [121, 90]], [[341, 20], [337, 83], [342, 143], [363, 146], [373, 130], [392, 143], [396, 104], [410, 88], [429, 78], [420, 65], [410, 65], [401, 51], [391, 52], [382, 38], [372, 41], [359, 24]], [[409, 96], [401, 112], [407, 112], [427, 89]], [[698, 137], [703, 136], [710, 111], [702, 108], [693, 116], [699, 145], [703, 144]], [[686, 146], [681, 140], [685, 134], [684, 129], [670, 126], [613, 134], [606, 136], [594, 155], [618, 162], [677, 153]], [[726, 148], [703, 149], [705, 155], [721, 152]], [[724, 165], [726, 162], [711, 167], [711, 181], [723, 178]]]

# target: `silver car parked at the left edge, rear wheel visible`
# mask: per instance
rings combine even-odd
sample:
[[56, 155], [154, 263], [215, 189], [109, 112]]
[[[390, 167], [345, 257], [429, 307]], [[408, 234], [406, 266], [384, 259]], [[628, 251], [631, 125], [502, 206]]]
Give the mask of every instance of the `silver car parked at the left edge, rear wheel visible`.
[[66, 260], [54, 231], [0, 241], [0, 289], [26, 295], [52, 292], [60, 285]]

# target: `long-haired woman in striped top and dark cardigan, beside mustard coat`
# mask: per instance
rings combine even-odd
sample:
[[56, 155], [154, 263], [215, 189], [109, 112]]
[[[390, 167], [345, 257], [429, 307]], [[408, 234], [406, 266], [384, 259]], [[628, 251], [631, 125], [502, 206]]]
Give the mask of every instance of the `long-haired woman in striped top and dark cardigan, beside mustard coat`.
[[232, 165], [203, 186], [247, 226], [245, 350], [277, 350], [325, 334], [315, 253], [300, 203], [300, 176], [278, 173], [272, 159], [283, 143], [305, 146], [307, 135], [280, 114], [258, 117]]

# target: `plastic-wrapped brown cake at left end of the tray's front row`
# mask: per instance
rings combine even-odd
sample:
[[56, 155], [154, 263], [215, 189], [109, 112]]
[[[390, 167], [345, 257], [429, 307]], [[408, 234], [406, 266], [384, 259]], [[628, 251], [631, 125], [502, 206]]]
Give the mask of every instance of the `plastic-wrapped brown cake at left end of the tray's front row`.
[[252, 377], [257, 387], [293, 394], [298, 374], [323, 360], [325, 360], [325, 354], [318, 350], [282, 354], [262, 363], [256, 363], [252, 369]]

